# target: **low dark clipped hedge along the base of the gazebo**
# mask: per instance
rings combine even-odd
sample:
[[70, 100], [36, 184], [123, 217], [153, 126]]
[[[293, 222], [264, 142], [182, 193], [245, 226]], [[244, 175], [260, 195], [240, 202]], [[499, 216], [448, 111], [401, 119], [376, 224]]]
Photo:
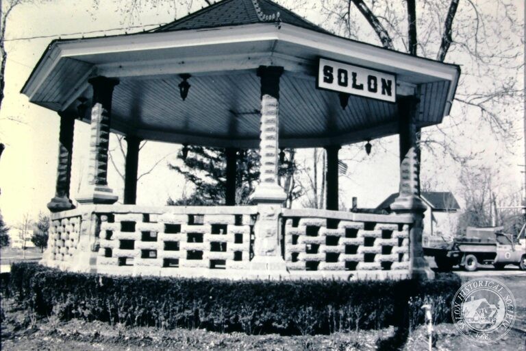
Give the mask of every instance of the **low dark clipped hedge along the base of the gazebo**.
[[12, 265], [9, 293], [40, 316], [128, 326], [207, 328], [282, 335], [405, 326], [434, 304], [451, 322], [460, 288], [453, 274], [435, 280], [214, 280], [78, 274], [34, 263]]

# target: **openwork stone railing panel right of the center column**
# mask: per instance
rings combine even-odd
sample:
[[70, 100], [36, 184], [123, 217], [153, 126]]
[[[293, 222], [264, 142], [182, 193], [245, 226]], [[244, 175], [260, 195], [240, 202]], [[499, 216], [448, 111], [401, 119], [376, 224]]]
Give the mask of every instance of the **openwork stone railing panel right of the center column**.
[[[389, 215], [316, 217], [288, 210], [284, 252], [289, 270], [370, 271], [409, 268], [409, 223]], [[303, 214], [303, 216], [302, 216]], [[384, 223], [382, 223], [382, 220]]]

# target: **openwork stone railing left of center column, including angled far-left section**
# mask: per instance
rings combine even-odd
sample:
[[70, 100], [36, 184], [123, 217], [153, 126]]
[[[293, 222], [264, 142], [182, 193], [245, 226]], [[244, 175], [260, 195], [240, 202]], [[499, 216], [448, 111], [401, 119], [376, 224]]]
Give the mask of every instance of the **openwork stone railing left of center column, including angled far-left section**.
[[249, 266], [255, 215], [252, 206], [82, 206], [51, 215], [42, 263], [107, 274], [227, 276]]

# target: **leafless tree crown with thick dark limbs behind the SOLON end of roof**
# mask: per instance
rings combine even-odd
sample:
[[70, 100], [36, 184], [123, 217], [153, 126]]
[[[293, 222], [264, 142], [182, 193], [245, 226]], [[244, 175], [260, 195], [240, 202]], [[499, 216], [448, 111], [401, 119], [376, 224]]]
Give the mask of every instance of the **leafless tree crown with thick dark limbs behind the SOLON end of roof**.
[[[492, 11], [487, 10], [490, 7]], [[462, 63], [455, 95], [460, 112], [453, 111], [456, 114], [447, 127], [423, 131], [423, 146], [431, 152], [438, 147], [459, 162], [477, 156], [460, 152], [459, 138], [444, 130], [450, 128], [463, 141], [469, 138], [462, 126], [473, 111], [479, 112], [479, 119], [499, 141], [514, 140], [512, 127], [522, 115], [524, 97], [519, 78], [524, 31], [513, 1], [406, 0], [403, 6], [388, 0], [323, 0], [321, 13], [323, 23], [332, 23], [328, 29], [336, 34], [440, 62]]]

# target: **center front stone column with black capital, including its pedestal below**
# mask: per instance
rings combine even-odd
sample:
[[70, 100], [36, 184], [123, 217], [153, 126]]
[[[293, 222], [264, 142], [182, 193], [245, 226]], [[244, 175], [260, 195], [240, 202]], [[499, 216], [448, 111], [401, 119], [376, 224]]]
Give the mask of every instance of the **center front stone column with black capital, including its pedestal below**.
[[278, 165], [278, 110], [279, 77], [283, 67], [260, 66], [261, 79], [261, 125], [260, 125], [260, 184], [252, 199], [258, 205], [255, 223], [254, 257], [251, 270], [258, 274], [273, 276], [286, 273], [286, 265], [279, 247], [279, 216], [281, 204], [286, 200], [285, 191], [277, 184]]

